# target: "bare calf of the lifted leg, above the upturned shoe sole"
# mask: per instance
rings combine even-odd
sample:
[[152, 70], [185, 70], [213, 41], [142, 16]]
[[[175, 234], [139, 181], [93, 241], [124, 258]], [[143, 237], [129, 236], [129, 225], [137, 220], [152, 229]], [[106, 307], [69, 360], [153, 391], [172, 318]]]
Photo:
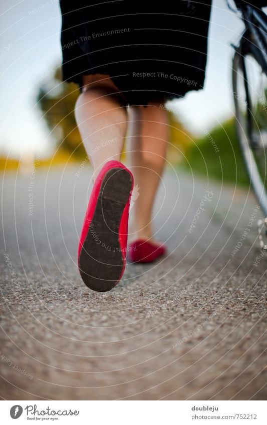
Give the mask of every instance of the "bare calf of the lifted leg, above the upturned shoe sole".
[[85, 76], [83, 83], [75, 118], [95, 178], [107, 161], [120, 160], [127, 128], [126, 102], [106, 75]]

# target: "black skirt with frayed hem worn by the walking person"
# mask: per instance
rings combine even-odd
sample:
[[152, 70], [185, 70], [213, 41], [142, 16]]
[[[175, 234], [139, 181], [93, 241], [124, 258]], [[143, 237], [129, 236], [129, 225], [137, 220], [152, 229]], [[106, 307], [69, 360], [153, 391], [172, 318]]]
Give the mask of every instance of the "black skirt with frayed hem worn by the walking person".
[[[92, 4], [90, 4], [92, 3]], [[211, 0], [61, 0], [63, 80], [107, 74], [130, 105], [203, 88]]]

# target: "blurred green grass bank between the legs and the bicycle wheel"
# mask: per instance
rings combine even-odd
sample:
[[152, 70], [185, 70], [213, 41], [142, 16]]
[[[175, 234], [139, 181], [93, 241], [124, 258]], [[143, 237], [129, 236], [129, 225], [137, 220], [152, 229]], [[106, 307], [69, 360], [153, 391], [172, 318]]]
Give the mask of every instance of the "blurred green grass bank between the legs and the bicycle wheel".
[[236, 138], [234, 120], [204, 131], [205, 136], [188, 147], [182, 166], [194, 174], [239, 186], [249, 185]]

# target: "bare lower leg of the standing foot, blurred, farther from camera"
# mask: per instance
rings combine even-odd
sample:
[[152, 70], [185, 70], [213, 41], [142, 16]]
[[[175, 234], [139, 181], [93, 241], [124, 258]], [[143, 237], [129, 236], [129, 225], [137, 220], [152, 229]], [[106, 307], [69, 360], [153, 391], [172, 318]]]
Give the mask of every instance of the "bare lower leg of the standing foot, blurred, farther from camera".
[[168, 117], [160, 104], [130, 108], [129, 157], [139, 196], [132, 212], [129, 240], [152, 242], [152, 208], [165, 165], [168, 142]]

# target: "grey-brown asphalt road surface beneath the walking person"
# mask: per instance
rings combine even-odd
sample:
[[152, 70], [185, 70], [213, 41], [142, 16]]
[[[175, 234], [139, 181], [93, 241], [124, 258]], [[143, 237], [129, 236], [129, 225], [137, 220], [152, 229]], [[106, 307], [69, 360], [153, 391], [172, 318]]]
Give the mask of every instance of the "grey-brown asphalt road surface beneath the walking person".
[[267, 263], [253, 196], [168, 170], [154, 219], [168, 255], [128, 264], [96, 293], [76, 265], [90, 194], [90, 169], [78, 168], [3, 178], [0, 395], [265, 399]]

